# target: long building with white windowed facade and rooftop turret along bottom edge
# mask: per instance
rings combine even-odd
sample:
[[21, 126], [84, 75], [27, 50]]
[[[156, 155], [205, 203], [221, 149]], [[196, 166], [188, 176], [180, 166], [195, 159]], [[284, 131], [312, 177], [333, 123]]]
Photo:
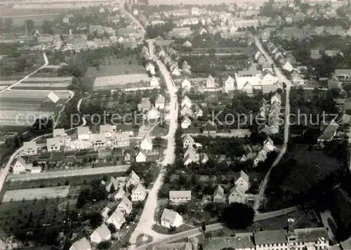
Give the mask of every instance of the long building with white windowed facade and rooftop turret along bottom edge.
[[[344, 242], [338, 249], [348, 249], [350, 242]], [[154, 244], [148, 250], [216, 250], [216, 249], [241, 249], [241, 250], [282, 250], [282, 249], [309, 249], [327, 250], [329, 235], [326, 228], [295, 228], [293, 218], [288, 219], [288, 227], [284, 230], [264, 230], [258, 232], [236, 232], [230, 237], [213, 237], [198, 240], [191, 238], [189, 242]], [[345, 247], [345, 248], [343, 248]]]

